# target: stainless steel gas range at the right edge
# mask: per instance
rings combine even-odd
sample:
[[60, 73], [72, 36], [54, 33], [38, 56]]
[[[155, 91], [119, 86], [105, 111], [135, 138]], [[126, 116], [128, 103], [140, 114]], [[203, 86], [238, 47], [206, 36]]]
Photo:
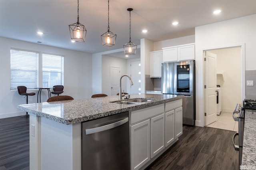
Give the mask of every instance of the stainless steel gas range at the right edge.
[[[234, 121], [238, 121], [238, 132], [233, 136], [233, 146], [235, 150], [239, 151], [239, 165], [242, 164], [242, 152], [243, 152], [243, 142], [244, 142], [244, 119], [246, 109], [256, 110], [256, 100], [244, 99], [243, 106], [236, 104], [236, 108], [233, 112]], [[238, 117], [235, 114], [238, 114]], [[235, 144], [235, 137], [238, 136], [238, 145]]]

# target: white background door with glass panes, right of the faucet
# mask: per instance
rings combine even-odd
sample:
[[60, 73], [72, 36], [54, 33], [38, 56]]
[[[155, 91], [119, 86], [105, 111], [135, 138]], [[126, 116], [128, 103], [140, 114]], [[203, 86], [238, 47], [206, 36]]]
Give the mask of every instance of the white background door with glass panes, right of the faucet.
[[132, 93], [140, 93], [140, 61], [131, 61], [131, 77], [133, 81], [133, 85], [131, 87]]

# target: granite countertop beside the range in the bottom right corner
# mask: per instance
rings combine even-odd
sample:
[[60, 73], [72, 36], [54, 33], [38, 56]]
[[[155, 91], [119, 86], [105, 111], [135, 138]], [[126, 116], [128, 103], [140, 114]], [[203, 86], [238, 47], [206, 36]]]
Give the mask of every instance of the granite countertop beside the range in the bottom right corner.
[[256, 111], [246, 110], [242, 166], [256, 167]]

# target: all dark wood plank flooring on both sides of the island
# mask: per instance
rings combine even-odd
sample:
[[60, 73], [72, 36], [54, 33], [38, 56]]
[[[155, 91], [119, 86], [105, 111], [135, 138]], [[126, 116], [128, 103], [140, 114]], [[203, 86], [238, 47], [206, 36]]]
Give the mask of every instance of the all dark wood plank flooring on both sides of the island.
[[[233, 134], [210, 127], [184, 126], [178, 142], [147, 170], [238, 170]], [[29, 119], [0, 119], [0, 170], [29, 170]]]

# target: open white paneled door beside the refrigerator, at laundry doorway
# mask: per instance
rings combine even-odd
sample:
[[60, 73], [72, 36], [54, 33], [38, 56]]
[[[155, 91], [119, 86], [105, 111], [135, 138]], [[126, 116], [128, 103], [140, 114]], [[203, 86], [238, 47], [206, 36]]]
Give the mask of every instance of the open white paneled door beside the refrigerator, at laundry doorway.
[[216, 58], [217, 55], [205, 51], [205, 87], [204, 87], [204, 112], [205, 125], [209, 125], [217, 120], [217, 103], [216, 103]]

